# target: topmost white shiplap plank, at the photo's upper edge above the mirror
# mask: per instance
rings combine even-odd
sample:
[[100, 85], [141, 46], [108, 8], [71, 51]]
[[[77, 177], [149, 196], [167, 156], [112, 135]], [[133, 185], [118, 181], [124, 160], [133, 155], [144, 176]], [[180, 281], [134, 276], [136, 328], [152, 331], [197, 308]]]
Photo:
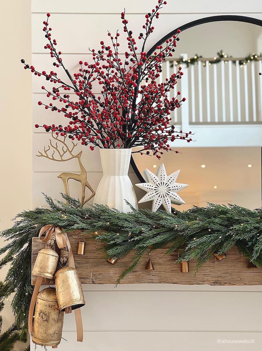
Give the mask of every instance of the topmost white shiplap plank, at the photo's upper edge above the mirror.
[[[157, 4], [156, 0], [122, 0], [108, 2], [105, 0], [85, 1], [63, 1], [63, 0], [32, 0], [32, 12], [58, 12], [58, 13], [120, 13], [125, 8], [126, 13], [148, 13]], [[243, 0], [237, 1], [237, 11], [261, 12], [261, 6], [258, 1], [251, 0], [247, 8], [247, 3]], [[236, 11], [236, 1], [221, 0], [219, 3], [203, 0], [201, 6], [198, 2], [184, 2], [183, 6], [177, 2], [168, 1], [163, 7], [161, 13], [229, 13]]]

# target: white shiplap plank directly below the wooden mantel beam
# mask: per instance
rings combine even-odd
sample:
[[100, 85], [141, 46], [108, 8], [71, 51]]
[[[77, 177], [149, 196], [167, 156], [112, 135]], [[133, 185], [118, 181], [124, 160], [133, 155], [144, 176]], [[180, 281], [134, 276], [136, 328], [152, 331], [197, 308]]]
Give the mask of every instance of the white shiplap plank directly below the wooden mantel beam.
[[[258, 313], [262, 308], [260, 294], [106, 291], [84, 295], [86, 305], [81, 312], [85, 331], [262, 331]], [[203, 310], [204, 318], [199, 323]], [[74, 314], [65, 315], [64, 331], [75, 330]]]

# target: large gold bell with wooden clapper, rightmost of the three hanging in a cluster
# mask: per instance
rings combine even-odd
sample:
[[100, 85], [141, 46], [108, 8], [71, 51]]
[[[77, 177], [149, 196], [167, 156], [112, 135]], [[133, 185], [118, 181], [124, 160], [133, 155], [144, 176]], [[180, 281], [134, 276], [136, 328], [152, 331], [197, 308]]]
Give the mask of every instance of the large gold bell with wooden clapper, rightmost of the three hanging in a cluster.
[[63, 267], [54, 276], [57, 300], [61, 311], [71, 306], [72, 310], [85, 305], [85, 298], [77, 270]]

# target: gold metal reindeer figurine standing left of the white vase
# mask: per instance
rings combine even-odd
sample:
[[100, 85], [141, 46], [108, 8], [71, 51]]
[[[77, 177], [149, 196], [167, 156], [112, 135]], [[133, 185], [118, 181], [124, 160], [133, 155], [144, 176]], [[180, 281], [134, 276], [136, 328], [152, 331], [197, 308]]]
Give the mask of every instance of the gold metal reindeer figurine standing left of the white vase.
[[[69, 187], [68, 187], [68, 180], [69, 179], [74, 179], [76, 181], [79, 181], [81, 183], [81, 187], [82, 187], [82, 194], [81, 194], [81, 204], [82, 206], [87, 203], [87, 201], [89, 201], [90, 199], [92, 199], [92, 197], [95, 196], [95, 192], [94, 190], [92, 189], [92, 187], [90, 186], [90, 184], [88, 183], [87, 181], [87, 173], [86, 173], [86, 170], [81, 162], [81, 155], [83, 153], [83, 151], [80, 151], [77, 155], [73, 155], [72, 154], [72, 151], [74, 150], [74, 148], [77, 146], [77, 143], [74, 144], [73, 141], [72, 141], [72, 148], [70, 149], [66, 143], [65, 143], [65, 139], [66, 137], [63, 137], [64, 140], [60, 140], [58, 139], [58, 135], [56, 137], [54, 137], [53, 133], [52, 133], [52, 138], [54, 140], [56, 140], [55, 142], [55, 145], [52, 144], [52, 141], [51, 139], [49, 139], [50, 141], [50, 145], [48, 145], [48, 147], [46, 148], [44, 146], [44, 154], [40, 151], [39, 152], [39, 155], [36, 155], [38, 157], [46, 157], [48, 158], [49, 160], [53, 160], [53, 161], [58, 161], [58, 162], [63, 162], [63, 161], [68, 161], [68, 160], [72, 160], [73, 158], [77, 158], [78, 160], [78, 163], [79, 163], [79, 167], [80, 167], [80, 174], [76, 174], [76, 173], [70, 173], [70, 172], [64, 172], [64, 173], [61, 173], [57, 178], [61, 178], [63, 180], [63, 183], [64, 183], [64, 187], [65, 187], [65, 192], [68, 196], [70, 196], [70, 193], [69, 193]], [[59, 151], [59, 148], [58, 148], [58, 142], [61, 143], [63, 146], [62, 146], [62, 151]], [[54, 149], [53, 150], [53, 153], [51, 156], [48, 155], [48, 151], [51, 150], [51, 147]], [[58, 153], [60, 159], [56, 159], [54, 158], [54, 154], [55, 152]], [[71, 157], [68, 157], [66, 159], [63, 159], [64, 155], [68, 152], [68, 154], [71, 156]], [[85, 188], [89, 188], [89, 190], [92, 192], [92, 194], [90, 195], [90, 197], [88, 199], [85, 200]]]

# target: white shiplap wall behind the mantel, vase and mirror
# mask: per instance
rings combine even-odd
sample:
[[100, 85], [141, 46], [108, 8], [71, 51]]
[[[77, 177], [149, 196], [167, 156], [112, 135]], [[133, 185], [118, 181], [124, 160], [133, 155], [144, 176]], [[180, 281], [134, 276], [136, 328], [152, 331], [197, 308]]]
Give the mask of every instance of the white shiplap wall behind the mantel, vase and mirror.
[[[168, 1], [148, 48], [172, 29], [187, 22], [210, 15], [240, 14], [262, 19], [259, 1], [212, 2], [206, 0], [185, 3]], [[107, 39], [107, 30], [115, 32], [122, 28], [119, 13], [126, 8], [129, 27], [134, 34], [144, 22], [143, 13], [151, 11], [155, 0], [32, 0], [32, 62], [39, 69], [52, 70], [53, 60], [44, 50], [45, 38], [42, 21], [45, 13], [52, 14], [52, 33], [68, 68], [78, 69], [78, 61], [88, 60], [88, 47], [97, 48], [100, 40]], [[122, 42], [125, 41], [122, 37]], [[123, 49], [124, 51], [124, 49]], [[37, 105], [46, 100], [41, 92], [44, 80], [33, 76], [33, 124], [54, 121], [52, 114]], [[97, 93], [99, 90], [97, 90]], [[58, 116], [63, 120], [61, 116]], [[39, 131], [39, 130], [37, 130]], [[37, 150], [48, 143], [46, 133], [33, 134], [33, 205], [44, 205], [41, 192], [58, 198], [63, 186], [57, 175], [63, 171], [78, 171], [74, 160], [55, 163], [35, 157]], [[88, 180], [96, 188], [101, 179], [101, 164], [97, 151], [85, 149], [83, 162]], [[130, 170], [133, 183], [136, 175]], [[79, 196], [77, 184], [72, 195]], [[140, 195], [138, 194], [138, 197]], [[83, 258], [84, 259], [84, 258]], [[187, 350], [260, 350], [262, 344], [262, 309], [260, 286], [212, 287], [179, 286], [160, 284], [85, 285], [86, 306], [83, 308], [84, 342], [76, 342], [73, 316], [65, 316], [60, 349], [63, 351], [157, 351]], [[219, 344], [217, 339], [251, 340], [252, 344]]]

